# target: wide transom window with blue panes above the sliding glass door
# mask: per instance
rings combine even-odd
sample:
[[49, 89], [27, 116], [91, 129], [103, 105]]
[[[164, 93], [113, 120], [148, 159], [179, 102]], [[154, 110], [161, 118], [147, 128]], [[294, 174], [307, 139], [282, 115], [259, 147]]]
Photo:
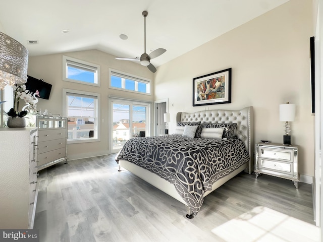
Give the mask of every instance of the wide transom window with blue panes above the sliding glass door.
[[109, 69], [110, 88], [123, 89], [124, 91], [137, 92], [142, 94], [149, 94], [150, 80], [136, 77], [128, 73]]

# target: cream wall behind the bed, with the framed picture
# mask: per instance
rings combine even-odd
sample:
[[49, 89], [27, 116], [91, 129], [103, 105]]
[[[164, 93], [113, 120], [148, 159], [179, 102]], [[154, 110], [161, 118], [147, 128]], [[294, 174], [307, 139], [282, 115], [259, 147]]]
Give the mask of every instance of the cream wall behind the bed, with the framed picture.
[[[219, 20], [221, 21], [221, 20]], [[212, 26], [205, 26], [212, 31]], [[292, 144], [299, 145], [299, 173], [314, 175], [309, 38], [312, 1], [291, 0], [157, 69], [155, 100], [169, 98], [170, 133], [176, 113], [254, 107], [255, 142], [283, 143], [279, 104], [296, 104]], [[192, 79], [232, 68], [232, 102], [192, 106]]]

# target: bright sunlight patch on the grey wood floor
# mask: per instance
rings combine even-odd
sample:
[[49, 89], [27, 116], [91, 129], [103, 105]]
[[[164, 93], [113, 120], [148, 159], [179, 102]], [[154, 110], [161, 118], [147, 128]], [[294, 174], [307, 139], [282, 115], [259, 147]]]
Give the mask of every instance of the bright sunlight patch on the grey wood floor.
[[227, 242], [318, 242], [319, 228], [266, 207], [255, 207], [211, 230]]

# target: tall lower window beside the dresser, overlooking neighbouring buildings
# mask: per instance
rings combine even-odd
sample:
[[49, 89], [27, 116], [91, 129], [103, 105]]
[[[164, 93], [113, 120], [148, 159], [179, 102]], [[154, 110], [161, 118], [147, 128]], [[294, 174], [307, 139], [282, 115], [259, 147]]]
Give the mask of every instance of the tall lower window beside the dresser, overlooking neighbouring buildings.
[[99, 141], [100, 94], [63, 89], [63, 115], [68, 118], [68, 144]]

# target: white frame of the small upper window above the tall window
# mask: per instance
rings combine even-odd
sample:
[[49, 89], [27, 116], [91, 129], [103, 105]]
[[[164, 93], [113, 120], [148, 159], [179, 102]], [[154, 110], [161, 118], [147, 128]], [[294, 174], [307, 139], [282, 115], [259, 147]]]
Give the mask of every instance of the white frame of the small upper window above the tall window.
[[[92, 70], [94, 72], [94, 77], [96, 77], [97, 83], [84, 82], [84, 81], [68, 78], [67, 77], [67, 66], [68, 65], [72, 65], [72, 66], [74, 65], [74, 66], [78, 67], [79, 69]], [[63, 55], [63, 81], [100, 87], [101, 86], [100, 75], [101, 75], [101, 71], [100, 71], [99, 65], [85, 62], [85, 61], [82, 61], [81, 59], [76, 59], [73, 57]]]

